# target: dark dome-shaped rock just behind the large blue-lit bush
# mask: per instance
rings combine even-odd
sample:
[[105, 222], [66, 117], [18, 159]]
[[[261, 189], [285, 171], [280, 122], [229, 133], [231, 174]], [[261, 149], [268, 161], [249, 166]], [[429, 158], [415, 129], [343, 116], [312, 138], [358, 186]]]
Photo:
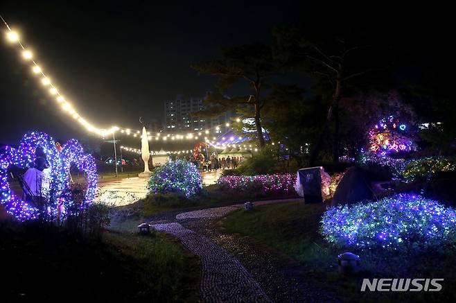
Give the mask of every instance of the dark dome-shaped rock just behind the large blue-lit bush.
[[333, 196], [333, 205], [353, 204], [373, 199], [374, 191], [369, 175], [362, 168], [353, 166], [340, 180]]

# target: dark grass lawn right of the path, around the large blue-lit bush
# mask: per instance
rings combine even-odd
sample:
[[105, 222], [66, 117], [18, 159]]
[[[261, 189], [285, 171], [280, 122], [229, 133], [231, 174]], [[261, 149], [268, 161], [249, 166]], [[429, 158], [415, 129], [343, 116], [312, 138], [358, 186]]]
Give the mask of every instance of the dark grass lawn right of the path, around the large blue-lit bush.
[[[254, 207], [236, 211], [221, 220], [225, 231], [247, 236], [252, 243], [272, 248], [299, 261], [309, 279], [333, 291], [347, 302], [455, 302], [455, 250], [428, 254], [386, 254], [358, 252], [362, 271], [357, 277], [337, 273], [337, 254], [344, 251], [330, 247], [319, 235], [319, 220], [324, 204], [303, 202]], [[439, 293], [361, 293], [362, 278], [444, 278]]]

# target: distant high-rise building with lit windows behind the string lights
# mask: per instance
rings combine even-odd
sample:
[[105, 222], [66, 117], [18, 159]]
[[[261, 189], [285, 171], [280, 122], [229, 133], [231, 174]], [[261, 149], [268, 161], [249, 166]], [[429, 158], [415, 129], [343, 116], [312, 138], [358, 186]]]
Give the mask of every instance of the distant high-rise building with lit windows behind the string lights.
[[228, 130], [233, 111], [229, 110], [220, 116], [211, 119], [192, 117], [192, 112], [198, 112], [203, 108], [202, 98], [184, 98], [177, 95], [173, 101], [165, 101], [165, 131], [198, 132], [220, 126], [220, 132]]

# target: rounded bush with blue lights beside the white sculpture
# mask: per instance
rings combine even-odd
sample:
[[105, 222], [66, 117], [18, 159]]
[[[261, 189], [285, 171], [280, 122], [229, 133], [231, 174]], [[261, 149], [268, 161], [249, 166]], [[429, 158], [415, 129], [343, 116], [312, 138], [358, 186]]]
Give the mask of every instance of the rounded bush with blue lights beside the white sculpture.
[[201, 174], [195, 164], [184, 159], [169, 161], [152, 171], [149, 193], [178, 193], [191, 198], [202, 191]]

